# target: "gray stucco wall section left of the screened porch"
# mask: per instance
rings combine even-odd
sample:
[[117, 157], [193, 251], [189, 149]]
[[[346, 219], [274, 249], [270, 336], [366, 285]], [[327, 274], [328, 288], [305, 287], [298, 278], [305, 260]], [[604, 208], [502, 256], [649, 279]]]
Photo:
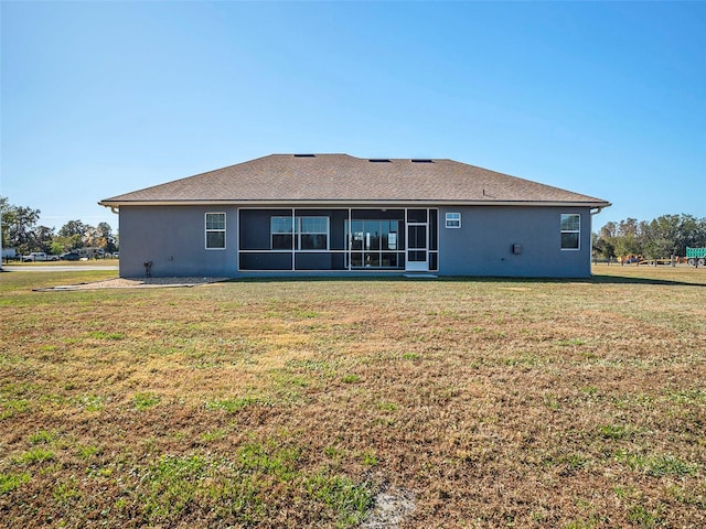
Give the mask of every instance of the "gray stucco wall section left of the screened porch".
[[[206, 250], [205, 214], [226, 214], [226, 249]], [[120, 277], [237, 274], [237, 209], [206, 206], [120, 206]]]

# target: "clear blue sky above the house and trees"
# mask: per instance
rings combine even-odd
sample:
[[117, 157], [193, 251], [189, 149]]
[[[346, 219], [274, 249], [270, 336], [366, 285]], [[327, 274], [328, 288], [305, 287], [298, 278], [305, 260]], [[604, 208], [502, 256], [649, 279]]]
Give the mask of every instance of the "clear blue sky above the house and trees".
[[270, 153], [450, 158], [706, 216], [706, 2], [11, 2], [0, 195], [56, 227]]

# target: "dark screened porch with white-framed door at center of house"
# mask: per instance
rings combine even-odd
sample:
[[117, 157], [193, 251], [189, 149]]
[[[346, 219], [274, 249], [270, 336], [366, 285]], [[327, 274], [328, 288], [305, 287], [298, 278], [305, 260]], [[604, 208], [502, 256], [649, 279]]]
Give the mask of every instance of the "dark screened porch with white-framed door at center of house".
[[434, 271], [438, 210], [238, 210], [240, 271]]

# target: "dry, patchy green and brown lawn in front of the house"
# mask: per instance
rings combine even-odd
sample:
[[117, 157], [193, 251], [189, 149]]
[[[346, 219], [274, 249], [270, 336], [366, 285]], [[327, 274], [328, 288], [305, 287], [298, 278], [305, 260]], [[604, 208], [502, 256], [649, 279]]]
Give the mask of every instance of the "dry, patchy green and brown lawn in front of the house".
[[32, 292], [0, 276], [7, 527], [705, 527], [706, 270]]

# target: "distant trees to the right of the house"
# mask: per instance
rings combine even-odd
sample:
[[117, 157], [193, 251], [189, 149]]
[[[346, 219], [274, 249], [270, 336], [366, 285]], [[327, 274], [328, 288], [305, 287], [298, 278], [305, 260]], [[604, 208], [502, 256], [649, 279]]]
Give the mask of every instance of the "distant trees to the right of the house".
[[661, 259], [686, 256], [686, 247], [706, 247], [706, 217], [662, 215], [653, 220], [628, 218], [608, 223], [593, 234], [593, 257], [642, 256]]

